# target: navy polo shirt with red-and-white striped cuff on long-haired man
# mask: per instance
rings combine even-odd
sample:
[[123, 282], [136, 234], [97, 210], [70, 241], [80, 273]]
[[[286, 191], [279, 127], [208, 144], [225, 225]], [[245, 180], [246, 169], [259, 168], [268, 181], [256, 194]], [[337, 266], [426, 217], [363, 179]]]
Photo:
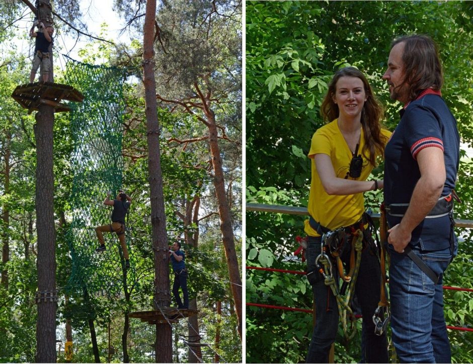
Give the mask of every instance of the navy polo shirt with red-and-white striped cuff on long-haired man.
[[[384, 203], [409, 203], [420, 178], [416, 156], [427, 147], [443, 150], [446, 180], [442, 196], [455, 187], [459, 164], [460, 138], [456, 119], [439, 95], [427, 94], [401, 110], [401, 121], [384, 151]], [[387, 214], [390, 227], [402, 217]], [[412, 232], [411, 244], [423, 250], [441, 250], [449, 246], [449, 216], [424, 219]]]

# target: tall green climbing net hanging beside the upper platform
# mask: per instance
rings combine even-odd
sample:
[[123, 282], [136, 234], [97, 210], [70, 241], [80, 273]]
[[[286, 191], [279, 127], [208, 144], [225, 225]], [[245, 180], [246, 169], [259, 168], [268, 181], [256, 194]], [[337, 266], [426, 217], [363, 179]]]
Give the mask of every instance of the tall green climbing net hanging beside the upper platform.
[[[122, 249], [116, 234], [104, 233], [106, 251], [96, 252], [95, 228], [110, 224], [111, 206], [103, 201], [107, 191], [115, 198], [122, 187], [123, 83], [125, 72], [116, 67], [95, 66], [70, 59], [66, 83], [84, 96], [70, 105], [74, 150], [70, 164], [73, 186], [70, 195], [72, 223], [67, 232], [72, 258], [67, 289], [87, 289], [89, 294], [118, 294], [126, 281], [134, 281], [134, 269], [125, 274]], [[127, 227], [128, 228], [128, 227]], [[128, 230], [128, 229], [127, 229]], [[133, 266], [133, 252], [125, 238]]]

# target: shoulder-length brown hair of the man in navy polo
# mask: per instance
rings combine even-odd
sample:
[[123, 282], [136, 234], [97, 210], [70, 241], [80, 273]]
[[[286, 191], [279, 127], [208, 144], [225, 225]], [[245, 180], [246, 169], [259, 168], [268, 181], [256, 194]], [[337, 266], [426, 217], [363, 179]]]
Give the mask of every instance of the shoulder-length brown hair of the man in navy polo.
[[440, 90], [443, 84], [442, 66], [435, 42], [427, 35], [406, 35], [395, 39], [391, 48], [404, 42], [404, 80], [409, 88], [409, 100], [415, 100], [425, 89]]

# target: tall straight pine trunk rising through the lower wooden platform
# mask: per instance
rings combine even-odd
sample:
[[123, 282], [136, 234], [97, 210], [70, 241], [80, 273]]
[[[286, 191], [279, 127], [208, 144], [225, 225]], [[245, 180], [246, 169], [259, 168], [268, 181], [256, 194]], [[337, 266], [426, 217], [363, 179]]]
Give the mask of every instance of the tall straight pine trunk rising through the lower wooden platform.
[[[156, 82], [154, 79], [154, 23], [156, 0], [146, 2], [143, 35], [143, 83], [146, 102], [146, 129], [148, 145], [148, 172], [151, 203], [152, 247], [154, 253], [154, 309], [169, 307], [171, 304], [169, 282], [169, 247], [166, 234], [164, 209], [163, 176], [161, 174], [161, 152], [159, 143], [159, 122], [157, 120]], [[154, 344], [156, 362], [173, 360], [172, 328], [166, 324], [156, 324]]]

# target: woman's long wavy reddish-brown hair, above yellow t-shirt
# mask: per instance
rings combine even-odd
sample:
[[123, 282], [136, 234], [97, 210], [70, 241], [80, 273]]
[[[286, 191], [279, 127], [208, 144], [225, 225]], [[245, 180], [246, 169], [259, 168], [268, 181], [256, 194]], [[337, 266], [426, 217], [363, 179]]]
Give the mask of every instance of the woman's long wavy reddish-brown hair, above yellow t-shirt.
[[363, 82], [367, 100], [361, 110], [361, 126], [364, 134], [364, 147], [362, 154], [367, 158], [373, 167], [376, 167], [376, 154], [384, 156], [384, 146], [387, 138], [381, 133], [380, 120], [384, 116], [384, 110], [381, 104], [376, 100], [369, 86], [368, 80], [355, 67], [344, 67], [335, 72], [332, 81], [329, 84], [329, 90], [321, 106], [321, 114], [326, 122], [331, 122], [339, 117], [340, 110], [333, 101], [337, 91], [337, 82], [341, 77], [356, 77]]

